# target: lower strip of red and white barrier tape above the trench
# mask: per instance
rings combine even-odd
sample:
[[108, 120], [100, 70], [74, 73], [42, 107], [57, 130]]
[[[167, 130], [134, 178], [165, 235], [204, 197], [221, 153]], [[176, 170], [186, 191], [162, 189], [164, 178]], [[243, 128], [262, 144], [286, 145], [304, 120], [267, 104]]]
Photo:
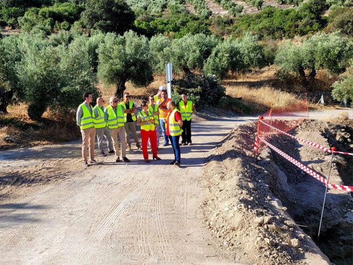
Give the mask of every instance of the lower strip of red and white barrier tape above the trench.
[[353, 192], [353, 187], [350, 186], [344, 186], [344, 185], [334, 185], [334, 184], [329, 184], [327, 183], [327, 180], [325, 178], [323, 178], [323, 176], [319, 175], [318, 173], [314, 172], [313, 170], [311, 170], [310, 168], [304, 166], [303, 164], [301, 164], [300, 162], [298, 162], [297, 160], [295, 160], [294, 158], [288, 156], [288, 154], [286, 154], [285, 152], [281, 151], [280, 149], [278, 149], [277, 147], [273, 146], [272, 144], [270, 144], [269, 142], [265, 141], [262, 138], [259, 138], [259, 140], [261, 140], [263, 143], [265, 143], [268, 147], [270, 147], [272, 150], [274, 150], [275, 152], [277, 152], [278, 154], [280, 154], [280, 156], [282, 156], [283, 158], [285, 158], [286, 160], [288, 160], [289, 162], [291, 162], [292, 164], [296, 165], [297, 167], [299, 167], [300, 169], [302, 169], [303, 171], [305, 171], [306, 173], [310, 174], [311, 176], [314, 176], [315, 179], [321, 181], [323, 184], [325, 184], [328, 188], [332, 188], [332, 189], [338, 189], [338, 190], [345, 190], [345, 191], [351, 191]]

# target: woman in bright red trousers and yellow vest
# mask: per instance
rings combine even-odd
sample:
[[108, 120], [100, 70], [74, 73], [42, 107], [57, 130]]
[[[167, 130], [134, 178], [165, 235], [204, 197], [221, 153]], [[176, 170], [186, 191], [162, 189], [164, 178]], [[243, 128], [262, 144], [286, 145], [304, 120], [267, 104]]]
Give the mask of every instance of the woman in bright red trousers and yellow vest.
[[151, 142], [152, 147], [152, 158], [153, 160], [161, 160], [157, 155], [157, 135], [156, 135], [156, 121], [153, 117], [153, 113], [148, 109], [147, 101], [141, 102], [142, 111], [137, 116], [137, 125], [141, 126], [141, 141], [142, 141], [142, 153], [143, 159], [146, 163], [151, 161], [148, 159], [147, 142], [148, 139]]

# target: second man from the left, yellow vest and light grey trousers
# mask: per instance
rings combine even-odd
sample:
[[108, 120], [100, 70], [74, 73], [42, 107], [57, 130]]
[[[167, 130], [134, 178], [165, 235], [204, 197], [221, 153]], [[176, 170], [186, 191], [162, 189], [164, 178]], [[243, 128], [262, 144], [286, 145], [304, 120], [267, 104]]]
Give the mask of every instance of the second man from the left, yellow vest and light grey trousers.
[[109, 132], [109, 128], [108, 126], [106, 126], [106, 121], [104, 119], [105, 114], [104, 114], [103, 98], [97, 98], [97, 104], [93, 108], [93, 113], [94, 113], [93, 123], [94, 123], [94, 127], [96, 128], [98, 149], [100, 150], [101, 156], [106, 157], [107, 154], [104, 153], [104, 147], [103, 147], [104, 136], [108, 142], [108, 153], [114, 153], [114, 150], [113, 150], [111, 133]]

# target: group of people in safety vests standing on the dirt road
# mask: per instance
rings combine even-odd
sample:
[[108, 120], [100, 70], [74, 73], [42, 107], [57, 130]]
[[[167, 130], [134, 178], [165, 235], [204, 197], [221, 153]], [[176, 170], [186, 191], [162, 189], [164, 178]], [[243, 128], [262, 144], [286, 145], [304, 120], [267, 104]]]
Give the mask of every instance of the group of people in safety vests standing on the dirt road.
[[[182, 145], [192, 145], [191, 142], [191, 117], [195, 112], [192, 101], [186, 94], [181, 95], [179, 106], [168, 98], [164, 86], [160, 86], [156, 95], [148, 97], [149, 102], [141, 102], [141, 111], [130, 100], [129, 93], [124, 93], [123, 101], [119, 103], [116, 97], [109, 99], [109, 105], [104, 107], [104, 99], [97, 98], [97, 104], [93, 107], [92, 94], [83, 93], [84, 102], [78, 106], [76, 122], [80, 126], [82, 135], [82, 159], [84, 166], [97, 164], [94, 156], [94, 143], [97, 136], [98, 148], [101, 156], [107, 156], [104, 152], [103, 140], [107, 139], [108, 153], [115, 153], [116, 162], [130, 162], [126, 157], [126, 151], [131, 150], [130, 134], [133, 136], [137, 149], [143, 153], [143, 159], [150, 163], [147, 145], [152, 150], [152, 159], [161, 160], [158, 157], [160, 131], [164, 138], [163, 146], [169, 142], [173, 148], [174, 160], [171, 165], [180, 166], [181, 152], [179, 139], [182, 137]], [[141, 126], [141, 144], [136, 133], [135, 122]], [[120, 139], [120, 149], [118, 145]], [[87, 160], [87, 148], [89, 148], [90, 161]], [[120, 159], [121, 157], [121, 159]]]

